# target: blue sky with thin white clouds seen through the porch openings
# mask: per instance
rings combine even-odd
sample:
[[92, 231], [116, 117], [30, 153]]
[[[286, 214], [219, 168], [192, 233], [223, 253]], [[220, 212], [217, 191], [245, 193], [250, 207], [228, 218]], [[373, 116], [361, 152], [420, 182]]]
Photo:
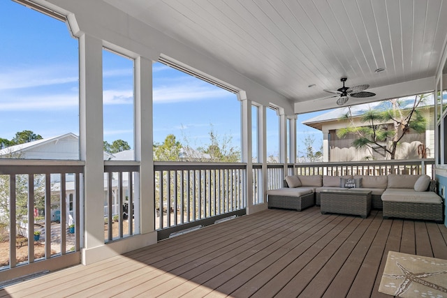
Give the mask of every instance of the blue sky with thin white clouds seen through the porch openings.
[[[78, 40], [66, 24], [0, 1], [0, 137], [34, 131], [42, 137], [79, 134]], [[104, 140], [133, 147], [133, 61], [103, 51]], [[153, 65], [154, 142], [172, 133], [192, 147], [209, 143], [212, 129], [240, 147], [240, 102], [235, 94], [156, 63]], [[321, 112], [318, 112], [321, 114]], [[277, 119], [268, 117], [268, 154], [276, 155]], [[321, 133], [302, 126], [316, 113], [298, 117], [298, 146]]]

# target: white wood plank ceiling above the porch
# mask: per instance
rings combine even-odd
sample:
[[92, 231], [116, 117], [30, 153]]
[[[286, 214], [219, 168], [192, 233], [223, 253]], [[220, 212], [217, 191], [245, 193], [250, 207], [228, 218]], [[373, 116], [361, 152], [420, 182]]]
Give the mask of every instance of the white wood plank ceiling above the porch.
[[295, 103], [433, 77], [447, 33], [443, 0], [104, 1]]

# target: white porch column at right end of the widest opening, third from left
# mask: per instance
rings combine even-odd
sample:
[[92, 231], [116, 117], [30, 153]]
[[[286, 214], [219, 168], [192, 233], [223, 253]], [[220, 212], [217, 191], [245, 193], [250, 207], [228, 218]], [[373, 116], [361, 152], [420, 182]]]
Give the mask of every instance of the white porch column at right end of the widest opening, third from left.
[[245, 198], [247, 200], [247, 214], [251, 214], [253, 210], [253, 150], [252, 150], [252, 135], [251, 135], [251, 100], [247, 99], [247, 94], [240, 91], [237, 94], [241, 101], [241, 136], [242, 136], [242, 163], [247, 163], [247, 191], [245, 191]]

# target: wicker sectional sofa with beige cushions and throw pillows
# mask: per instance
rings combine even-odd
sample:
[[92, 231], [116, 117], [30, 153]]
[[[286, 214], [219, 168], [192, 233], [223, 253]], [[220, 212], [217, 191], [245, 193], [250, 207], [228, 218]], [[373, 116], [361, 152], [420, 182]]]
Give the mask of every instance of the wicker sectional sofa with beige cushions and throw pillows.
[[286, 187], [267, 191], [268, 207], [301, 211], [319, 205], [323, 189], [346, 189], [342, 179], [354, 179], [357, 187], [372, 191], [372, 208], [383, 209], [385, 218], [444, 221], [443, 200], [434, 192], [435, 181], [427, 175], [288, 176]]

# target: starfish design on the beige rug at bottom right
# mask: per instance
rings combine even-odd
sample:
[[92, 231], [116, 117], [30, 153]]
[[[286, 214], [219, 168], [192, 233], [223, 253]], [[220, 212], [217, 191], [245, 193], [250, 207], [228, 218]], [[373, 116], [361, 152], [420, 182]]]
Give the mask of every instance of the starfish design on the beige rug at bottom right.
[[447, 293], [447, 288], [441, 287], [441, 285], [437, 285], [434, 283], [430, 283], [430, 281], [425, 281], [422, 278], [439, 275], [439, 274], [446, 274], [447, 271], [437, 271], [432, 273], [413, 273], [409, 271], [408, 269], [405, 269], [402, 265], [400, 265], [398, 262], [396, 262], [397, 267], [399, 267], [403, 275], [399, 274], [383, 274], [383, 276], [389, 277], [389, 278], [403, 278], [404, 281], [401, 283], [400, 287], [396, 290], [395, 296], [402, 295], [408, 288], [410, 288], [411, 283], [420, 283], [421, 285], [425, 285], [429, 288], [432, 288], [434, 290], [438, 290], [441, 292]]

